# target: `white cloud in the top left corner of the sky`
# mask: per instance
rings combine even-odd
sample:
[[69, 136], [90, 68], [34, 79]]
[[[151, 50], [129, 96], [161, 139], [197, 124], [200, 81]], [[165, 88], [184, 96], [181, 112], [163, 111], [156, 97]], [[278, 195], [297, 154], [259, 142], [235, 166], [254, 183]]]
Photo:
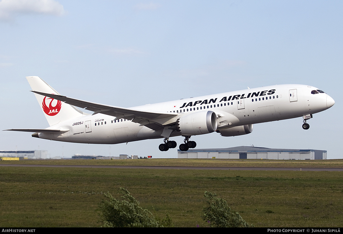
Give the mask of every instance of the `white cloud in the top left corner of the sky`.
[[55, 0], [1, 0], [0, 19], [12, 19], [18, 14], [63, 15], [63, 6]]

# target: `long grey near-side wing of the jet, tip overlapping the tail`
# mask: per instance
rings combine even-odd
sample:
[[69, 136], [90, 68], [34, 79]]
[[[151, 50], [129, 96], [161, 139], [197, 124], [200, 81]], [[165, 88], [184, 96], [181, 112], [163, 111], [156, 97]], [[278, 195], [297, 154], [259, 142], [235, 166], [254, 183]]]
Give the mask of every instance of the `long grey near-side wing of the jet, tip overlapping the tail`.
[[155, 124], [157, 123], [162, 127], [163, 125], [176, 122], [175, 117], [178, 115], [177, 113], [142, 111], [142, 110], [135, 110], [135, 109], [130, 109], [130, 108], [107, 106], [103, 104], [83, 101], [83, 100], [69, 98], [66, 96], [61, 96], [61, 95], [56, 95], [56, 94], [46, 94], [46, 93], [41, 93], [38, 91], [32, 91], [32, 92], [43, 95], [43, 96], [47, 96], [50, 98], [54, 98], [59, 101], [63, 101], [67, 104], [70, 104], [76, 107], [94, 111], [93, 114], [97, 114], [97, 113], [107, 114], [107, 115], [115, 116], [116, 117], [115, 120], [123, 118], [127, 120], [132, 120], [132, 122], [134, 123], [140, 123], [141, 125], [151, 125], [153, 123]]

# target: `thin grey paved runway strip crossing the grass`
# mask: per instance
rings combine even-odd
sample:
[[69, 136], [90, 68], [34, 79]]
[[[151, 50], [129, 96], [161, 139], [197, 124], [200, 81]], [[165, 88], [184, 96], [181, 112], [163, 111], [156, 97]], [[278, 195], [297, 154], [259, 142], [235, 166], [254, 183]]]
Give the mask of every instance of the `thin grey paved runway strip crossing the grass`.
[[98, 166], [98, 165], [24, 165], [0, 164], [0, 167], [47, 168], [126, 168], [126, 169], [178, 169], [178, 170], [250, 170], [250, 171], [343, 171], [343, 168], [254, 168], [254, 167], [169, 167], [169, 166]]

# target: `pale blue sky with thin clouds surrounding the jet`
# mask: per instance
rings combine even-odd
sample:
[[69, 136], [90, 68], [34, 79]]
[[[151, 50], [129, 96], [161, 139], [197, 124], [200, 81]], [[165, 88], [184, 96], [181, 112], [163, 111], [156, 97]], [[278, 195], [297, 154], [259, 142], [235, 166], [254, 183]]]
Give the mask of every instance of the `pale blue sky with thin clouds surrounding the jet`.
[[[48, 123], [25, 76], [60, 94], [119, 107], [275, 84], [306, 84], [335, 105], [309, 120], [254, 125], [251, 134], [193, 136], [197, 148], [254, 145], [341, 155], [342, 1], [0, 1], [1, 128]], [[162, 139], [62, 143], [0, 132], [1, 150], [52, 157], [177, 157]], [[175, 137], [178, 144], [183, 137]]]

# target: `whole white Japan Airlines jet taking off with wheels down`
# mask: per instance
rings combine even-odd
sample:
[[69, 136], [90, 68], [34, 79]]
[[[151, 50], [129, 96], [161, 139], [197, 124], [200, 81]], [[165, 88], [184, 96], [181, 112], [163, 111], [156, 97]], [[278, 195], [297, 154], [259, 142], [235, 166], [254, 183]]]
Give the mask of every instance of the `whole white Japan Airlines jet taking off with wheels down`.
[[[26, 77], [49, 123], [45, 129], [8, 129], [34, 132], [33, 137], [87, 144], [118, 144], [164, 138], [159, 150], [177, 146], [170, 137], [184, 136], [179, 149], [195, 148], [191, 136], [217, 132], [238, 136], [252, 132], [256, 123], [303, 118], [335, 101], [309, 85], [273, 85], [176, 101], [121, 108], [61, 96], [38, 76]], [[87, 114], [76, 107], [93, 111]]]

